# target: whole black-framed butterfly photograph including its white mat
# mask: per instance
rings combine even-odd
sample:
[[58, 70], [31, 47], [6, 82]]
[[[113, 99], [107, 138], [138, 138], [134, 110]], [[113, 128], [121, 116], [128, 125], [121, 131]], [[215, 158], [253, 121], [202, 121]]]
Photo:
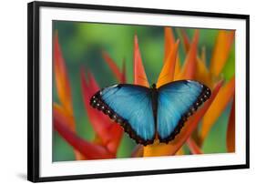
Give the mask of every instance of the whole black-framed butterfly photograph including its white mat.
[[249, 24], [29, 3], [28, 180], [248, 169]]

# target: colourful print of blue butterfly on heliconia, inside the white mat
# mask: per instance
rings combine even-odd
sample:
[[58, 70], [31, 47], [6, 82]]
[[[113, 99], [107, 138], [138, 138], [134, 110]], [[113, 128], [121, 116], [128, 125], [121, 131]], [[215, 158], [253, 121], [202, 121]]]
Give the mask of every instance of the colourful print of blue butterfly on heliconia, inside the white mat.
[[53, 22], [53, 161], [235, 151], [235, 31]]

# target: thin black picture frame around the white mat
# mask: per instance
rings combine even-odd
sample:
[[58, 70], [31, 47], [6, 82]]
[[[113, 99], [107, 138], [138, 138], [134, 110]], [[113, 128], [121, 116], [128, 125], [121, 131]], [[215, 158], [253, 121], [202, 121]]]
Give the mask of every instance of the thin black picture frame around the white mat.
[[[56, 7], [56, 8], [73, 8], [73, 9], [90, 9], [90, 10], [111, 10], [118, 12], [134, 12], [148, 14], [166, 14], [166, 15], [196, 15], [217, 18], [243, 19], [246, 21], [246, 164], [218, 167], [202, 167], [189, 169], [160, 169], [160, 170], [141, 170], [131, 172], [118, 173], [102, 173], [75, 176], [59, 176], [42, 178], [39, 175], [39, 21], [40, 7]], [[125, 177], [138, 175], [155, 175], [169, 174], [180, 172], [196, 172], [207, 170], [223, 170], [223, 169], [249, 169], [250, 167], [250, 15], [235, 14], [219, 14], [194, 11], [178, 11], [167, 9], [151, 9], [137, 7], [122, 7], [109, 5], [80, 5], [68, 3], [52, 3], [52, 2], [32, 2], [27, 5], [27, 179], [33, 182], [56, 181], [68, 179], [95, 179], [109, 177]]]

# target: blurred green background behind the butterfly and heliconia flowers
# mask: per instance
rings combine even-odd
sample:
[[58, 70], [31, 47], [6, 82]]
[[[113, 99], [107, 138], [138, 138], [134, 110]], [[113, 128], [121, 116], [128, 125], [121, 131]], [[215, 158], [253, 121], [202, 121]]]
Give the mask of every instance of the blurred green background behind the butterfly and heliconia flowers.
[[[185, 29], [189, 38], [194, 34], [194, 29]], [[125, 59], [127, 66], [128, 83], [133, 81], [133, 47], [134, 36], [138, 36], [138, 44], [143, 64], [146, 69], [149, 83], [156, 82], [164, 56], [164, 27], [162, 26], [132, 26], [132, 25], [110, 25], [95, 23], [80, 23], [67, 21], [54, 21], [53, 33], [57, 31], [59, 44], [67, 65], [67, 74], [71, 83], [74, 115], [76, 119], [77, 134], [81, 138], [93, 140], [94, 131], [90, 125], [83, 99], [81, 95], [80, 74], [81, 68], [90, 70], [100, 87], [106, 87], [117, 83], [112, 72], [106, 65], [101, 55], [102, 51], [116, 61], [121, 68]], [[180, 38], [179, 28], [173, 27], [176, 38]], [[207, 65], [209, 66], [212, 49], [218, 30], [200, 29], [200, 48], [205, 46]], [[181, 41], [181, 40], [180, 40]], [[235, 69], [234, 44], [230, 52], [229, 60], [222, 72], [224, 79], [230, 79]], [[184, 61], [185, 52], [182, 44], [179, 46], [180, 61]], [[53, 80], [55, 81], [55, 80]], [[56, 86], [53, 84], [54, 102], [58, 102]], [[217, 123], [210, 130], [208, 138], [203, 145], [205, 153], [226, 152], [226, 129], [230, 113], [230, 106], [222, 113]], [[53, 161], [74, 160], [73, 149], [61, 138], [56, 131], [53, 132]], [[118, 158], [129, 158], [133, 148], [136, 146], [134, 140], [124, 134]], [[185, 152], [189, 153], [184, 146]]]

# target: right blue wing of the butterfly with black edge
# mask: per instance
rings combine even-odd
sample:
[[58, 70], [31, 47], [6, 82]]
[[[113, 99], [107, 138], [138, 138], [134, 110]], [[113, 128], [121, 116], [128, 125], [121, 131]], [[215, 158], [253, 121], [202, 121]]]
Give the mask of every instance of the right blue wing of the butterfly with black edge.
[[197, 81], [179, 80], [159, 87], [159, 141], [168, 143], [173, 139], [187, 118], [209, 97], [210, 88]]

